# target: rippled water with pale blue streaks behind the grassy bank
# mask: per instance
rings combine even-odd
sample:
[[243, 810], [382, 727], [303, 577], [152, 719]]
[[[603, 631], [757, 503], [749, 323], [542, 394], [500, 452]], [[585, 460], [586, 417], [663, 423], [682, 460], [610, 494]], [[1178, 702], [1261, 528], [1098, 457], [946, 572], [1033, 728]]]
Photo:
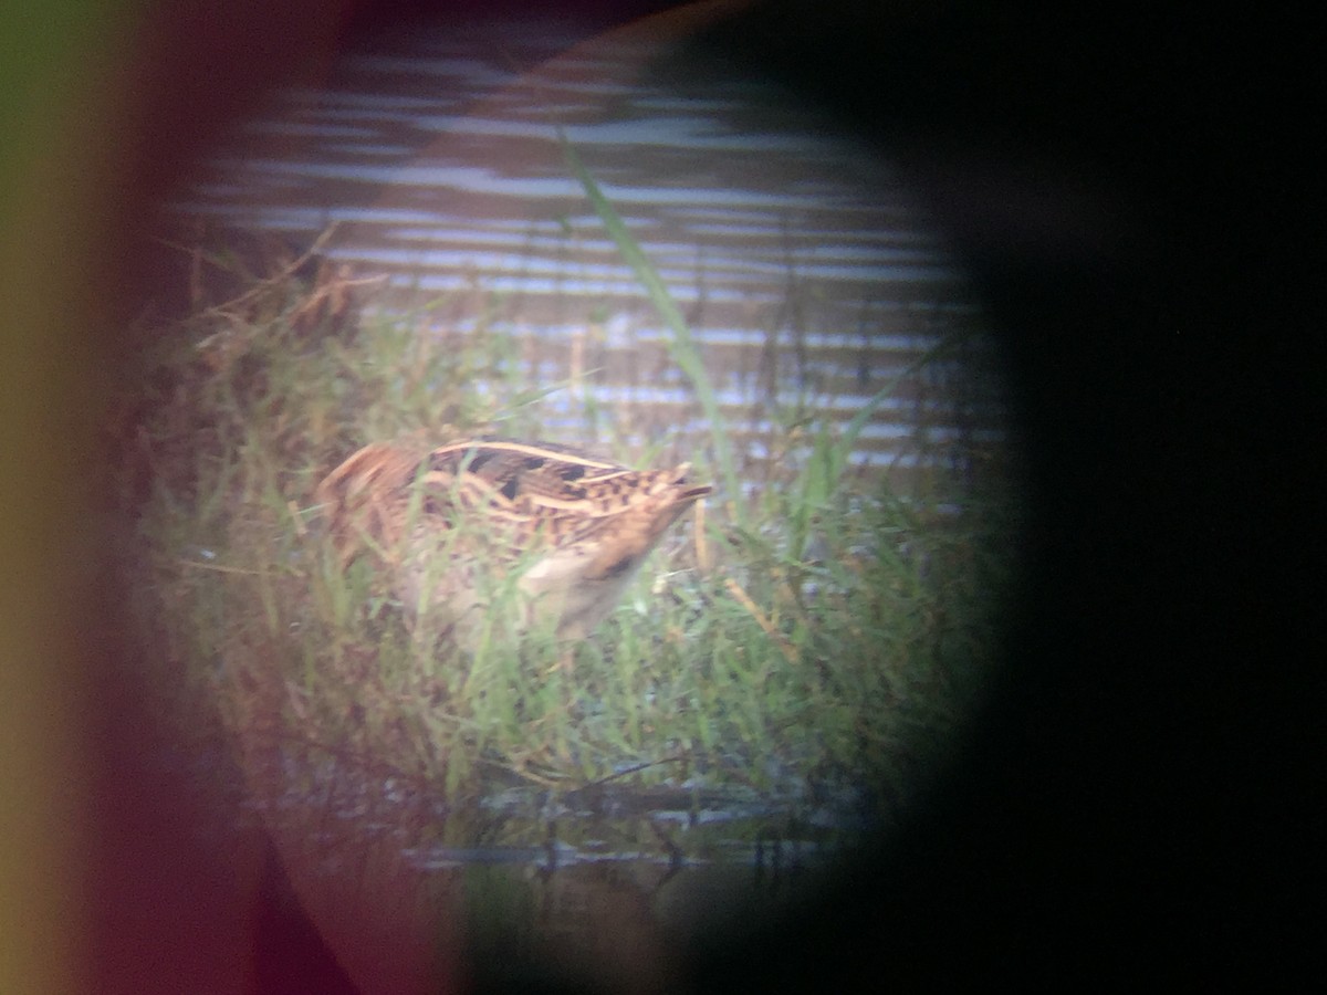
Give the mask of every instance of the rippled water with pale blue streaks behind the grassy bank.
[[877, 155], [694, 49], [617, 41], [541, 62], [559, 38], [549, 25], [387, 38], [325, 88], [280, 94], [176, 207], [305, 239], [336, 223], [328, 253], [384, 275], [389, 310], [429, 308], [423, 334], [472, 321], [439, 298], [490, 295], [486, 332], [528, 340], [549, 382], [576, 373], [568, 344], [585, 340], [592, 375], [580, 397], [553, 395], [553, 426], [584, 427], [596, 402], [686, 423], [685, 385], [661, 397], [646, 373], [669, 366], [669, 333], [571, 176], [560, 129], [686, 310], [752, 459], [771, 414], [845, 423], [951, 338], [963, 356], [905, 377], [855, 460], [904, 480], [963, 458], [910, 446], [918, 425], [1003, 442], [977, 308]]

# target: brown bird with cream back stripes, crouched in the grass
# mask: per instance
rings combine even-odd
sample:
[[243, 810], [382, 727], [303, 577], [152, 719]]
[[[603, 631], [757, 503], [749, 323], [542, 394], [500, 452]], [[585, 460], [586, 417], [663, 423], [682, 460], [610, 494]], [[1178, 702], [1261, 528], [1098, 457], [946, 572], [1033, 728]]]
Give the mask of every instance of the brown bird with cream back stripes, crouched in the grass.
[[630, 470], [547, 442], [369, 443], [318, 484], [341, 566], [387, 564], [413, 625], [474, 653], [549, 626], [581, 641], [662, 535], [713, 492], [689, 463]]

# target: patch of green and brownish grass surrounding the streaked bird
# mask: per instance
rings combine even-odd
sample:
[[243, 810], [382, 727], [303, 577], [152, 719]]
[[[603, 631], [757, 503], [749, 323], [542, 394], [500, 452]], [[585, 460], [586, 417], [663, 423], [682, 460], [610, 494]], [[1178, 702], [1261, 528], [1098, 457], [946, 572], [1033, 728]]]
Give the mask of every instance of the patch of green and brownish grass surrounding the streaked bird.
[[[971, 495], [905, 499], [847, 472], [868, 413], [784, 439], [747, 492], [715, 418], [695, 462], [725, 500], [654, 553], [593, 638], [492, 629], [462, 654], [421, 635], [373, 557], [342, 564], [312, 495], [369, 440], [540, 438], [547, 386], [512, 373], [482, 320], [446, 348], [410, 314], [320, 334], [295, 320], [317, 292], [259, 280], [259, 306], [163, 337], [123, 480], [145, 624], [242, 751], [316, 750], [449, 799], [514, 779], [790, 800], [852, 785], [878, 813], [914, 785], [993, 645], [999, 521], [937, 513], [975, 511]], [[690, 375], [703, 398], [703, 367]]]

